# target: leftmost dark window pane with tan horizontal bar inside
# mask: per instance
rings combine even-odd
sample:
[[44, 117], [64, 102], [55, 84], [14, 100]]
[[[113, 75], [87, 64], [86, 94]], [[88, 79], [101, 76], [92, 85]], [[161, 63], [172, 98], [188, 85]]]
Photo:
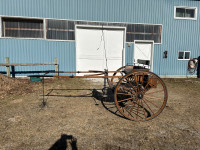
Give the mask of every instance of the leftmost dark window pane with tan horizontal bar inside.
[[43, 38], [43, 20], [2, 18], [2, 36], [16, 38]]

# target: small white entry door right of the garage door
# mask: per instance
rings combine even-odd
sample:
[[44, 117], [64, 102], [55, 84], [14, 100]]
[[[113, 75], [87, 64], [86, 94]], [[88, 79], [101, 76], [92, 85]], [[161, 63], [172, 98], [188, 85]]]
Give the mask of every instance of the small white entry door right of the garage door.
[[153, 42], [135, 42], [134, 64], [153, 71]]

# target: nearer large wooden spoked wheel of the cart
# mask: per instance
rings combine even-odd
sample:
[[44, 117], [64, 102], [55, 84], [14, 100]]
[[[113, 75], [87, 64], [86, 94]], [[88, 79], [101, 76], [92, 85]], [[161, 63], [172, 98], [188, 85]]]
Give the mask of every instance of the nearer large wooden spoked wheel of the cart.
[[167, 103], [167, 88], [152, 72], [137, 71], [121, 78], [115, 92], [115, 104], [124, 117], [134, 121], [158, 116]]

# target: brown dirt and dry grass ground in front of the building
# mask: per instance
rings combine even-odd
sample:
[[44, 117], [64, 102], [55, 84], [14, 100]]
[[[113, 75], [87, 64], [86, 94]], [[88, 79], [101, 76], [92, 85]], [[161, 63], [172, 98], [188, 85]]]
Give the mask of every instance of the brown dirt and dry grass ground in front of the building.
[[102, 82], [41, 82], [0, 75], [0, 150], [199, 150], [200, 80], [164, 79], [168, 102], [156, 118], [123, 118], [100, 101]]

